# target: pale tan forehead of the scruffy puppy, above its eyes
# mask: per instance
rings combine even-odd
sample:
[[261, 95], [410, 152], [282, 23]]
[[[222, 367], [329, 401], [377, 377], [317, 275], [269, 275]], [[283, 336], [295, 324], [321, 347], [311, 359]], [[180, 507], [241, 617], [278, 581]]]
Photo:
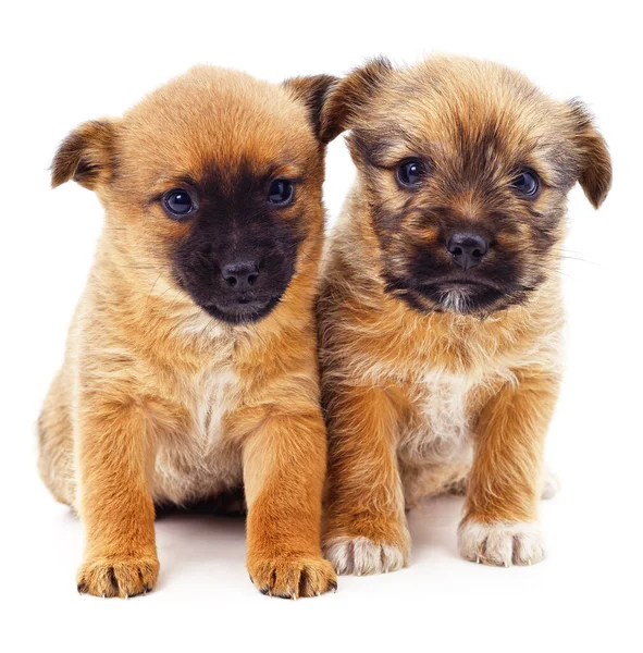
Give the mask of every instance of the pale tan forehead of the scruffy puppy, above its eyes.
[[437, 156], [457, 156], [463, 143], [481, 140], [520, 156], [548, 149], [561, 128], [558, 106], [523, 75], [459, 58], [399, 71], [382, 87], [375, 114], [389, 123], [383, 133], [411, 148], [432, 147]]

